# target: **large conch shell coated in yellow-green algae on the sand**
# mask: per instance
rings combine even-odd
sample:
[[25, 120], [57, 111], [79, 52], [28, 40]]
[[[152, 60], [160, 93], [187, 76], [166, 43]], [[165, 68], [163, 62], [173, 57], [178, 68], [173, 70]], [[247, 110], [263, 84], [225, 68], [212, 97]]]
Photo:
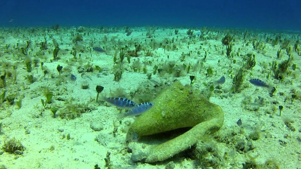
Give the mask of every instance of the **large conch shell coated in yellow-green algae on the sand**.
[[[223, 124], [222, 109], [210, 103], [189, 85], [175, 82], [155, 100], [155, 106], [139, 116], [130, 126], [127, 140], [133, 133], [139, 137], [192, 127], [186, 133], [159, 144], [147, 152], [145, 162], [163, 161], [192, 146], [206, 134], [212, 134]], [[133, 154], [135, 154], [133, 152]], [[136, 161], [138, 159], [135, 159]]]

